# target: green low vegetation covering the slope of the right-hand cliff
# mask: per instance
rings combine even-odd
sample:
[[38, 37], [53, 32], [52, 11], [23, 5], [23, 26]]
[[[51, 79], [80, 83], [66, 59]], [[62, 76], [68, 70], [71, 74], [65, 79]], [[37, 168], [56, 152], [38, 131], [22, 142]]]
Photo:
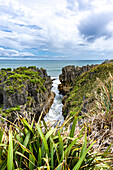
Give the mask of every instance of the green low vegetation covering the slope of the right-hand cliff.
[[78, 111], [81, 112], [83, 99], [87, 99], [92, 89], [97, 86], [96, 79], [105, 80], [109, 76], [109, 72], [113, 74], [113, 63], [98, 65], [76, 77], [73, 88], [67, 95], [66, 107], [68, 107], [68, 113], [71, 114], [71, 111], [74, 111], [78, 106]]

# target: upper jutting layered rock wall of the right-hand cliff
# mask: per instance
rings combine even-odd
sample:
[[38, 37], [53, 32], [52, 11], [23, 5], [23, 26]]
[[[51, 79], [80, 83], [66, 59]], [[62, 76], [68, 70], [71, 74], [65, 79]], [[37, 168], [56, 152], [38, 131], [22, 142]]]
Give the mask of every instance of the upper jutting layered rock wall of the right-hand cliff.
[[62, 69], [62, 74], [59, 76], [61, 84], [59, 84], [58, 89], [59, 92], [63, 95], [67, 94], [71, 87], [73, 86], [74, 80], [77, 76], [81, 75], [82, 73], [90, 70], [91, 68], [95, 67], [96, 65], [87, 65], [83, 67], [75, 67], [74, 65], [66, 66]]

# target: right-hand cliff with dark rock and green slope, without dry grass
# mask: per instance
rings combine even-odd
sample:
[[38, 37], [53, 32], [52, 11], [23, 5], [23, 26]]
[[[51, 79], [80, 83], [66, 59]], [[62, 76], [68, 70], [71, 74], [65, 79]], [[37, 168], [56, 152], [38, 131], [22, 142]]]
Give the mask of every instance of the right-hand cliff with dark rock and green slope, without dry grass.
[[68, 114], [87, 112], [87, 97], [98, 85], [97, 78], [103, 81], [109, 76], [109, 72], [113, 74], [113, 63], [84, 67], [64, 67], [62, 74], [59, 76], [61, 81], [59, 91], [64, 94], [62, 100], [64, 117]]

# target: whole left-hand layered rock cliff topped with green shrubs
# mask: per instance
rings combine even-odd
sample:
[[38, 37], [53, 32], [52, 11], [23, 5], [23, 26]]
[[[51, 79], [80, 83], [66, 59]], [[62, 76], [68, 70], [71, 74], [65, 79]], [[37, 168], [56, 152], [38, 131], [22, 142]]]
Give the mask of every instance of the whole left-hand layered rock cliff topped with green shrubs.
[[51, 92], [52, 80], [45, 69], [35, 66], [0, 70], [0, 107], [22, 106], [23, 112], [32, 112], [38, 119], [46, 114], [55, 94]]

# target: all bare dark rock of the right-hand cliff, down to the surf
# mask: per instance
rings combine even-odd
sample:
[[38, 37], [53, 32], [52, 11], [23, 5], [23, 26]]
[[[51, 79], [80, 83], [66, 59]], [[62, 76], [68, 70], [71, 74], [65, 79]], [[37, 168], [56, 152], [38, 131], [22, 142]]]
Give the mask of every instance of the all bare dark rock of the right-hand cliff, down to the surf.
[[[64, 118], [68, 115], [71, 106], [72, 101], [68, 99], [68, 95], [70, 95], [70, 91], [72, 91], [74, 89], [74, 86], [76, 86], [75, 81], [77, 80], [77, 78], [89, 71], [90, 69], [92, 69], [93, 67], [96, 67], [97, 65], [86, 65], [83, 67], [75, 67], [75, 66], [66, 66], [62, 69], [62, 74], [59, 76], [60, 82], [61, 84], [59, 84], [58, 89], [59, 92], [61, 94], [64, 95], [63, 99], [62, 99], [62, 104], [63, 104], [63, 108], [62, 108], [62, 114], [64, 116]], [[91, 72], [89, 79], [91, 79], [93, 77], [95, 73]], [[86, 80], [81, 82], [81, 86], [83, 86], [86, 82]], [[75, 89], [75, 92], [76, 93]], [[84, 111], [86, 112], [86, 107], [83, 107]]]

